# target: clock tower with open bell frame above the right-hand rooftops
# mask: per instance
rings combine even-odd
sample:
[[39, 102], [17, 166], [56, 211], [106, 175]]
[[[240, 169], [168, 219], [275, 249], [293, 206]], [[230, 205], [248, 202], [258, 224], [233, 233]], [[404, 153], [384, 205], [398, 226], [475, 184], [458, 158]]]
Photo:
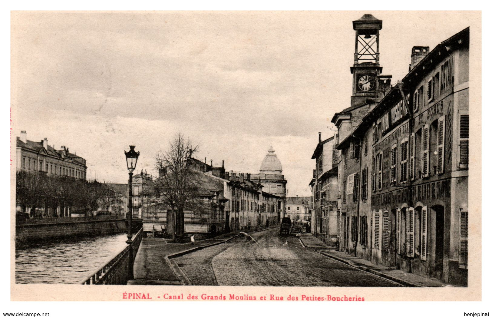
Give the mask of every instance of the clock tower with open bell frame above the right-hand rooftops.
[[378, 76], [383, 69], [379, 65], [379, 30], [383, 28], [383, 21], [371, 14], [364, 14], [352, 25], [355, 30], [355, 53], [354, 65], [350, 67], [353, 74], [350, 101], [351, 107], [354, 107], [378, 95]]

